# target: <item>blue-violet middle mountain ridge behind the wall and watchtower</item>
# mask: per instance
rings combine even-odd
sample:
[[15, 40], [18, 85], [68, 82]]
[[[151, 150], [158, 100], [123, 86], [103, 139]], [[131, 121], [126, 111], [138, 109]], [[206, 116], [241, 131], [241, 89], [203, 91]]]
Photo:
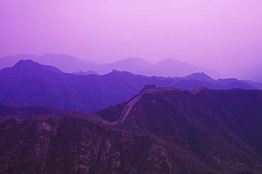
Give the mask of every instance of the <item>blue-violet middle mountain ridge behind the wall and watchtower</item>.
[[0, 102], [18, 107], [47, 106], [91, 113], [129, 100], [145, 84], [188, 90], [200, 85], [213, 89], [258, 89], [237, 79], [215, 81], [205, 74], [192, 74], [179, 79], [115, 70], [103, 76], [81, 76], [63, 73], [54, 66], [32, 60], [21, 60], [11, 68], [0, 70]]

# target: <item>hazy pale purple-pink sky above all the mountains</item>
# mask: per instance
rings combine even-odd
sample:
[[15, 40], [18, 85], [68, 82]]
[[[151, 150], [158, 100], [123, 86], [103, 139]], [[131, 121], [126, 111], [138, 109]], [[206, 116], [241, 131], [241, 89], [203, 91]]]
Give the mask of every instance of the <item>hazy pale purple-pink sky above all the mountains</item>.
[[178, 59], [225, 77], [262, 64], [262, 0], [1, 0], [0, 57]]

